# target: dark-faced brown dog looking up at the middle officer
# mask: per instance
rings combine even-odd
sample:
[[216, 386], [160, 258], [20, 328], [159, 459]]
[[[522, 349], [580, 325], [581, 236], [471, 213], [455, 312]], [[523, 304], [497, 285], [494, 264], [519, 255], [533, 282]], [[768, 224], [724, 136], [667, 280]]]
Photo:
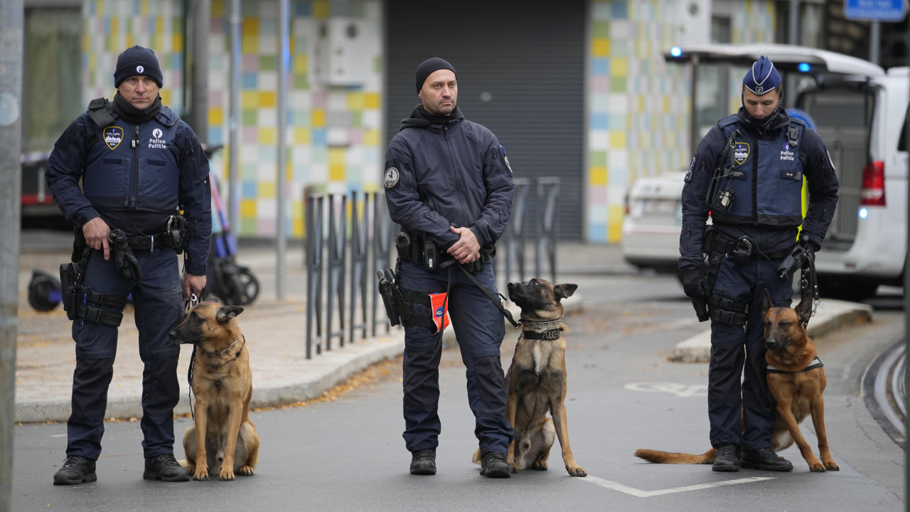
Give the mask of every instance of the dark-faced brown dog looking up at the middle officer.
[[[527, 467], [546, 470], [554, 437], [559, 437], [569, 475], [588, 475], [571, 454], [565, 407], [566, 326], [561, 322], [561, 300], [576, 288], [542, 279], [509, 283], [509, 298], [521, 307], [521, 335], [506, 374], [506, 416], [515, 429], [508, 455], [513, 473]], [[480, 450], [474, 453], [474, 462], [480, 464]]]

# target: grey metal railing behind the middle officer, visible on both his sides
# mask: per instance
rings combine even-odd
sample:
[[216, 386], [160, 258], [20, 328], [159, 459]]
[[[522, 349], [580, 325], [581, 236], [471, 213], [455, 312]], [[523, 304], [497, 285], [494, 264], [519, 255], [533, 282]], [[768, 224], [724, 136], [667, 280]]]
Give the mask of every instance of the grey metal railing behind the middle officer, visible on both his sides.
[[[527, 257], [534, 261], [534, 276], [543, 276], [544, 266], [556, 282], [556, 200], [560, 179], [515, 179], [511, 224], [498, 244], [500, 290], [516, 273], [525, 280]], [[529, 200], [529, 196], [531, 199]], [[376, 271], [391, 267], [398, 226], [389, 219], [380, 192], [351, 191], [349, 194], [304, 194], [307, 267], [307, 359], [313, 353], [355, 343], [357, 337], [376, 336], [389, 319], [375, 279]], [[536, 222], [528, 222], [534, 216]], [[534, 226], [528, 232], [527, 226]], [[532, 241], [529, 243], [529, 238]], [[526, 249], [533, 246], [533, 254]], [[325, 290], [323, 290], [325, 284]], [[379, 313], [378, 313], [379, 311]]]

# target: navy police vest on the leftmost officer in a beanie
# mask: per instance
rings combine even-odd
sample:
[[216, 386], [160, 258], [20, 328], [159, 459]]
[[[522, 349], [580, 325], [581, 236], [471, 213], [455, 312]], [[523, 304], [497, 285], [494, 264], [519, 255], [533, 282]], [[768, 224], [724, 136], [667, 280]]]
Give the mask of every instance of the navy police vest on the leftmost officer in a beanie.
[[155, 118], [139, 126], [118, 116], [110, 119], [112, 124], [96, 128], [97, 138], [87, 148], [86, 199], [99, 211], [173, 213], [180, 184], [174, 146], [177, 116], [162, 107]]

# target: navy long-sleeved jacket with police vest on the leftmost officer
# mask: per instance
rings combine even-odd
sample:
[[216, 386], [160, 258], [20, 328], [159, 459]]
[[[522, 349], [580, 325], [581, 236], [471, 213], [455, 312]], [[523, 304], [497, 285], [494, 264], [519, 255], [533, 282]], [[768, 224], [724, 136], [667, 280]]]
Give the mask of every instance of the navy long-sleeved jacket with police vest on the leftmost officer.
[[186, 271], [205, 275], [211, 189], [196, 134], [167, 107], [138, 125], [112, 115], [113, 125], [98, 127], [83, 113], [57, 139], [45, 170], [54, 200], [80, 228], [101, 217], [129, 235], [157, 235], [180, 207], [190, 230]]

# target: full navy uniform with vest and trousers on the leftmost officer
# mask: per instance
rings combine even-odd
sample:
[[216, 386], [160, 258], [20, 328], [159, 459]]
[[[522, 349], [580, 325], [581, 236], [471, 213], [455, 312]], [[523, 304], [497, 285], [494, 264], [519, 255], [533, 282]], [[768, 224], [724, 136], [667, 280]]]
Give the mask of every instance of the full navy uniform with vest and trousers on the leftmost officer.
[[[80, 228], [76, 252], [81, 227], [97, 217], [130, 237], [141, 277], [124, 277], [113, 256], [106, 261], [103, 251], [92, 251], [81, 300], [116, 316], [122, 308], [90, 299], [101, 294], [125, 302], [132, 294], [139, 356], [145, 364], [140, 425], [149, 458], [173, 454], [180, 349], [167, 333], [181, 321], [185, 304], [177, 248], [162, 232], [163, 225], [178, 206], [186, 211], [185, 270], [204, 276], [211, 235], [208, 164], [193, 130], [170, 108], [160, 107], [153, 118], [138, 123], [128, 121], [116, 107], [108, 113], [113, 116], [108, 126], [98, 126], [86, 112], [66, 128], [47, 162], [45, 178], [60, 210]], [[101, 453], [117, 327], [80, 318], [73, 322], [73, 339], [76, 371], [66, 455], [94, 461]]]

